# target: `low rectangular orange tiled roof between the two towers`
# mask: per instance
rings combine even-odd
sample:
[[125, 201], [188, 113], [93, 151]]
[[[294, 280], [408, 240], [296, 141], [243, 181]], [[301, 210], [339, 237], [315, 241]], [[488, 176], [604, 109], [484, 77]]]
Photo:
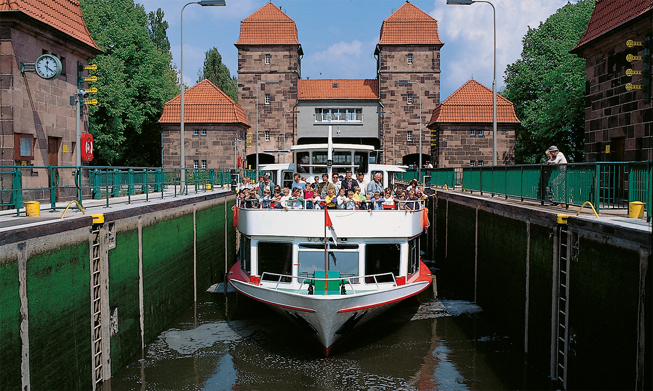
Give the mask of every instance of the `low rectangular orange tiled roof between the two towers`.
[[376, 79], [298, 80], [297, 99], [379, 99]]

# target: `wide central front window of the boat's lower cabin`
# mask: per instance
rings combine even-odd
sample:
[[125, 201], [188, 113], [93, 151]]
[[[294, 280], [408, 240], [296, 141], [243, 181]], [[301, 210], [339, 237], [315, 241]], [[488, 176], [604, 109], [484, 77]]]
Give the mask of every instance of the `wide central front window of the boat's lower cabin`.
[[[358, 276], [358, 244], [328, 245], [328, 270], [339, 270], [340, 274]], [[325, 268], [324, 244], [300, 244], [297, 257], [299, 273], [313, 274], [314, 270]]]

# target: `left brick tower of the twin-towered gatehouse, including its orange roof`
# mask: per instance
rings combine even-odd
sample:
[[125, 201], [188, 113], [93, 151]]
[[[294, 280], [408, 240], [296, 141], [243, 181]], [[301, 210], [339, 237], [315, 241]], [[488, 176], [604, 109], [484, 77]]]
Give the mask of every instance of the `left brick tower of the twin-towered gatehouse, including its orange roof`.
[[252, 126], [247, 163], [255, 166], [257, 113], [259, 164], [274, 163], [279, 155], [263, 151], [276, 151], [295, 143], [295, 113], [287, 111], [295, 111], [300, 56], [304, 54], [295, 21], [274, 4], [266, 3], [240, 22], [240, 37], [235, 46], [238, 48], [238, 104]]

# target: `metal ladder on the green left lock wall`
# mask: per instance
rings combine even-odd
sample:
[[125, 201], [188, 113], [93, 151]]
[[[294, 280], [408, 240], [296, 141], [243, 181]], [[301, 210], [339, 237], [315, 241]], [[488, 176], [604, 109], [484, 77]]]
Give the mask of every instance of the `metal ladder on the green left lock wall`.
[[101, 261], [100, 261], [100, 227], [101, 224], [93, 224], [91, 235], [93, 236], [93, 257], [91, 259], [91, 302], [93, 317], [93, 390], [103, 382], [103, 358], [102, 358], [102, 295], [101, 295]]

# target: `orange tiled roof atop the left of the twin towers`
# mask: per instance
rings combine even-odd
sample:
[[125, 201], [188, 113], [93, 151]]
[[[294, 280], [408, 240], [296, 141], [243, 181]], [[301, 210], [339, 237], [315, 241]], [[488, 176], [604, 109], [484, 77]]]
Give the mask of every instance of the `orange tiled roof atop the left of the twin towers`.
[[266, 3], [240, 22], [236, 45], [298, 44], [295, 21], [272, 3]]

